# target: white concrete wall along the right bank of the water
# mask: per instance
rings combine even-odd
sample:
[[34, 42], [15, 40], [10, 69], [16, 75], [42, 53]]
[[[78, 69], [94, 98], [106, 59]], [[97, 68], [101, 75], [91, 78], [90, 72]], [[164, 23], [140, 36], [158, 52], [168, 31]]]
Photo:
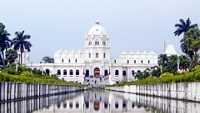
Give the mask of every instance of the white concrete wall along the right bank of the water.
[[200, 102], [200, 82], [106, 87], [107, 90]]

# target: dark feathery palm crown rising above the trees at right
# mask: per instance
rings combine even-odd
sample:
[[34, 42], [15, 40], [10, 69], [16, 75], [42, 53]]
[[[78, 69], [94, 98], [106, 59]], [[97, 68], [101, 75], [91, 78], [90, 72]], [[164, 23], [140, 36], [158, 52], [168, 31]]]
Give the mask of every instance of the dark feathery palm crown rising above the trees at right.
[[179, 20], [180, 23], [175, 24], [175, 27], [177, 27], [176, 31], [174, 32], [175, 36], [180, 36], [182, 33], [186, 33], [190, 28], [196, 28], [198, 27], [197, 24], [191, 24], [190, 18], [188, 18], [186, 21], [183, 19]]

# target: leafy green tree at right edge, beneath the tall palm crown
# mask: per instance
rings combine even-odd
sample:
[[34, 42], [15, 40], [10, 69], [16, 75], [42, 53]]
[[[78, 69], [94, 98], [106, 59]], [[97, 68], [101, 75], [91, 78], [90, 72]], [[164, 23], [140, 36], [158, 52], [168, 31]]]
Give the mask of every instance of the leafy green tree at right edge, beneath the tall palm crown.
[[181, 50], [190, 58], [190, 67], [195, 66], [198, 61], [197, 52], [200, 49], [200, 30], [191, 28], [181, 40]]

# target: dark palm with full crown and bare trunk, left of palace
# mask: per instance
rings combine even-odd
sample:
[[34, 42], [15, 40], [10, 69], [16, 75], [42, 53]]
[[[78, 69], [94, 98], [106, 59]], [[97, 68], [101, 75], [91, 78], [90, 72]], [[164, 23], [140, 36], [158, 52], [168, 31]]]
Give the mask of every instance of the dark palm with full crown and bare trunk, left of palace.
[[20, 51], [20, 64], [22, 65], [22, 53], [27, 50], [28, 52], [31, 51], [32, 44], [27, 41], [30, 39], [30, 35], [24, 34], [24, 31], [22, 32], [15, 32], [16, 37], [12, 40], [12, 44], [14, 45], [14, 50]]

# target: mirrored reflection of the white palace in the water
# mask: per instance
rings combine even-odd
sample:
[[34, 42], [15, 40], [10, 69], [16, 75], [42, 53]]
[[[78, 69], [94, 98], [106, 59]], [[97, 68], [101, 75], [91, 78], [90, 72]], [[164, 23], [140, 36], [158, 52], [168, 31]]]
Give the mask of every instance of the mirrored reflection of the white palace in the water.
[[[148, 113], [144, 108], [123, 96], [108, 92], [84, 92], [80, 96], [52, 105], [34, 113]], [[139, 106], [139, 107], [138, 107]]]

